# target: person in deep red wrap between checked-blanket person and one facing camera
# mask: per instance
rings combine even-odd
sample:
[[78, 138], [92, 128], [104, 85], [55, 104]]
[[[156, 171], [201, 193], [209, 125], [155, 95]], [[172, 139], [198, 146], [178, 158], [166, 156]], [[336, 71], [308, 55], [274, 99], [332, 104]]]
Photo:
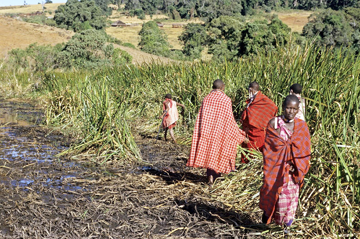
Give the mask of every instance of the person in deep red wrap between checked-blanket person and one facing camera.
[[[248, 142], [241, 147], [255, 149], [262, 152], [265, 140], [265, 129], [269, 120], [278, 112], [278, 107], [266, 95], [259, 91], [259, 84], [251, 82], [249, 85], [249, 99], [241, 115], [242, 128], [246, 133]], [[242, 163], [248, 163], [245, 155], [241, 157]]]

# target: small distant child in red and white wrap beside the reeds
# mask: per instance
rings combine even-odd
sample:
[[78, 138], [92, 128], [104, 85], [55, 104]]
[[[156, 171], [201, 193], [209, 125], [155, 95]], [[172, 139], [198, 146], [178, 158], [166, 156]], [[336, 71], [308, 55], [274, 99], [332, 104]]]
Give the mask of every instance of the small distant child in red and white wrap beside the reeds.
[[174, 131], [172, 128], [175, 127], [176, 121], [179, 119], [179, 113], [177, 112], [177, 106], [183, 107], [183, 110], [185, 109], [185, 106], [183, 104], [177, 103], [172, 100], [171, 94], [165, 95], [165, 101], [163, 103], [163, 114], [159, 117], [162, 118], [162, 126], [163, 129], [165, 129], [165, 141], [167, 141], [166, 136], [168, 134], [168, 130], [170, 133], [170, 136], [174, 143], [176, 144]]

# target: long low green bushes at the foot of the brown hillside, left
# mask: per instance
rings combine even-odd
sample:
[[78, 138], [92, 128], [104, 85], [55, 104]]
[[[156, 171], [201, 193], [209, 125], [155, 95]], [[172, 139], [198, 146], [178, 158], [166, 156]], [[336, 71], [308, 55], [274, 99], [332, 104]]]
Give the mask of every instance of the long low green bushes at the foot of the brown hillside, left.
[[85, 30], [75, 34], [66, 44], [29, 45], [25, 50], [9, 52], [9, 63], [14, 68], [47, 71], [55, 68], [96, 68], [131, 63], [132, 56], [107, 43], [103, 31]]

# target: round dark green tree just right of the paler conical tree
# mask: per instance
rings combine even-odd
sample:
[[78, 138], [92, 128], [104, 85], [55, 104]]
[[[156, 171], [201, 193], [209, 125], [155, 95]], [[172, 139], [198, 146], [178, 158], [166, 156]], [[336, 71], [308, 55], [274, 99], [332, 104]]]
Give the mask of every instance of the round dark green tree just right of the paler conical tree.
[[206, 42], [206, 29], [201, 24], [189, 23], [179, 35], [179, 41], [184, 44], [183, 53], [190, 58], [200, 58]]

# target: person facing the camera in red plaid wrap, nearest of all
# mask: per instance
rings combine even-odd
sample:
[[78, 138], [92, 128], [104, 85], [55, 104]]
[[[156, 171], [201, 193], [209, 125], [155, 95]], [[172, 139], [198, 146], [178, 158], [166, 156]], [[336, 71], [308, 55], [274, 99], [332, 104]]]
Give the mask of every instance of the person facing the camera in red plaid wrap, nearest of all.
[[263, 149], [264, 182], [260, 190], [262, 222], [290, 227], [294, 221], [299, 189], [310, 167], [311, 142], [308, 125], [296, 117], [299, 99], [287, 95], [284, 114], [267, 124]]

